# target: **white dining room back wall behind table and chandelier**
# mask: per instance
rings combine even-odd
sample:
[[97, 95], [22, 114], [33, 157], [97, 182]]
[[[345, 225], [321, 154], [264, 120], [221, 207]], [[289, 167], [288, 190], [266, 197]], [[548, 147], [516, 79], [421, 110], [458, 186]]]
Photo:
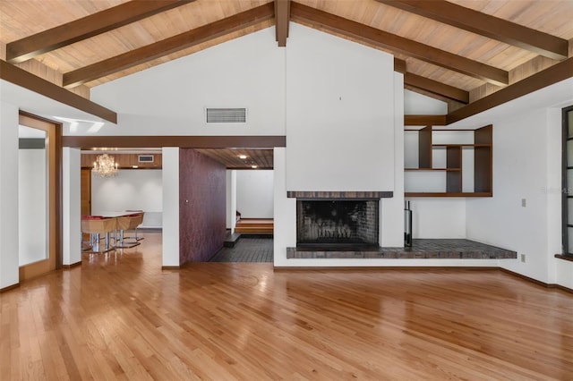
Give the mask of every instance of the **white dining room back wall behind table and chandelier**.
[[91, 214], [143, 210], [142, 227], [161, 227], [162, 193], [160, 169], [120, 169], [108, 179], [91, 174]]

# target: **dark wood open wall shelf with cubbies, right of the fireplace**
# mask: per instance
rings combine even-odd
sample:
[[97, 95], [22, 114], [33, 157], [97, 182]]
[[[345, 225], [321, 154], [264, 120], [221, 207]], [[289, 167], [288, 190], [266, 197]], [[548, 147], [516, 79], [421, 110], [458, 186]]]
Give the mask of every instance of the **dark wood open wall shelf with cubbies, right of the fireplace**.
[[492, 125], [407, 130], [406, 197], [492, 197]]

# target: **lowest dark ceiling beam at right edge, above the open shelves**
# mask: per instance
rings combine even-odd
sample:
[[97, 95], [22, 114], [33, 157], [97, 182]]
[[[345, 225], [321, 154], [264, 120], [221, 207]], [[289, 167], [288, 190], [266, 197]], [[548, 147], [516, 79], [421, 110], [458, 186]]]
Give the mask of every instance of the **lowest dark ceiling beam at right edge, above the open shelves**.
[[538, 89], [546, 88], [547, 86], [551, 86], [554, 83], [567, 80], [571, 77], [573, 77], [573, 57], [556, 63], [552, 67], [543, 70], [543, 72], [537, 72], [525, 80], [519, 80], [507, 88], [500, 89], [487, 97], [478, 99], [467, 106], [449, 113], [447, 122], [450, 124], [461, 121], [469, 116], [482, 113], [485, 110], [500, 106], [517, 97], [523, 97]]

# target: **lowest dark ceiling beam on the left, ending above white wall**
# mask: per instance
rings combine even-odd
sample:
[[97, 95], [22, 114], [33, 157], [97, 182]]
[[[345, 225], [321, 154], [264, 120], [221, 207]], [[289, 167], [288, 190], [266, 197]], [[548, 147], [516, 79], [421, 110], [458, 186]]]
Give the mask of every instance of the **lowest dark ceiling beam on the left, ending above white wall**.
[[13, 64], [0, 60], [0, 79], [49, 97], [64, 105], [72, 106], [88, 114], [98, 116], [111, 123], [117, 123], [117, 114], [104, 106], [57, 86], [56, 84], [26, 72]]

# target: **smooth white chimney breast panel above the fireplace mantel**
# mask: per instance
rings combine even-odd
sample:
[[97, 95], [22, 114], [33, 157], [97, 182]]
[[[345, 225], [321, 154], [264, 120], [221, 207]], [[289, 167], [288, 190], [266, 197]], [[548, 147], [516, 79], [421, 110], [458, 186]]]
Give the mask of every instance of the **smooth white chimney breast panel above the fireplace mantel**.
[[393, 56], [291, 23], [288, 190], [394, 190]]

